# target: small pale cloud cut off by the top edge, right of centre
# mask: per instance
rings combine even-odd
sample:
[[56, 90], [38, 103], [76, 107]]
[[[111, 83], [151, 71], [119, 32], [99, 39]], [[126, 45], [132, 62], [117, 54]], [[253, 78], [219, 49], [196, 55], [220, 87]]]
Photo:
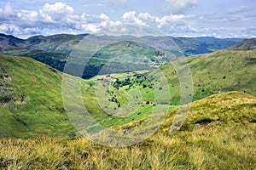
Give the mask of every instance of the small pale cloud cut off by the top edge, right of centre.
[[198, 6], [199, 0], [166, 0], [168, 10], [173, 14], [184, 14], [191, 8]]

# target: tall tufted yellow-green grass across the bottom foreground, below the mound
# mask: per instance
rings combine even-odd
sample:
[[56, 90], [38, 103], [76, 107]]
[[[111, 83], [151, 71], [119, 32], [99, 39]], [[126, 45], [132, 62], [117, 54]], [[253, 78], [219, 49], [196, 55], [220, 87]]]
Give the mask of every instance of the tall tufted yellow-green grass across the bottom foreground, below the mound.
[[87, 139], [0, 141], [3, 169], [253, 169], [255, 126], [155, 134], [129, 148]]

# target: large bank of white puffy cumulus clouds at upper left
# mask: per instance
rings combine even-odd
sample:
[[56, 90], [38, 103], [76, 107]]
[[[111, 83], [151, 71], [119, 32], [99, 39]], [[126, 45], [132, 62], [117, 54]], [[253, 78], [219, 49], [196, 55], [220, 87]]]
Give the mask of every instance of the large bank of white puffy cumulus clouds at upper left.
[[114, 23], [107, 14], [75, 14], [66, 3], [45, 3], [37, 11], [14, 10], [10, 3], [0, 8], [0, 31], [16, 35], [38, 34], [44, 30], [95, 32]]

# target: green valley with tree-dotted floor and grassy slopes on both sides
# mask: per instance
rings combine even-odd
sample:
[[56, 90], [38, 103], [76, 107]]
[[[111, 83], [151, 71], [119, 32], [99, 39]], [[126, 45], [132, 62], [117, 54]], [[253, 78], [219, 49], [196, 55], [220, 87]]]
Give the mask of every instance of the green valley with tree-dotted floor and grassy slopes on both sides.
[[[1, 136], [31, 138], [49, 134], [75, 134], [61, 102], [61, 72], [32, 59], [2, 55], [1, 60], [0, 109], [9, 122], [1, 122]], [[189, 57], [187, 62], [193, 87], [183, 88], [194, 89], [194, 93], [189, 94], [193, 96], [193, 101], [230, 91], [255, 96], [254, 60], [253, 50], [220, 50], [212, 54]], [[160, 80], [158, 71], [165, 75], [166, 81]], [[155, 108], [172, 110], [180, 105], [182, 88], [172, 62], [161, 65], [155, 71], [99, 75], [82, 80], [81, 87], [84, 105], [90, 115], [104, 127], [143, 120]], [[155, 94], [160, 94], [162, 98], [157, 99]], [[115, 116], [118, 113], [124, 116]], [[33, 119], [38, 122], [33, 122]]]

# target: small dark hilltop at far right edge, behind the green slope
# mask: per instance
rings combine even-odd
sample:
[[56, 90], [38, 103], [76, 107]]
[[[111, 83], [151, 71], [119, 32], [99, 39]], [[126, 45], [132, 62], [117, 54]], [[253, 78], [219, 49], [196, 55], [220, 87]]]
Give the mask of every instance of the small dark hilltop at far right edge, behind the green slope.
[[230, 47], [232, 50], [255, 50], [256, 49], [256, 38], [246, 39], [241, 42], [237, 42]]

